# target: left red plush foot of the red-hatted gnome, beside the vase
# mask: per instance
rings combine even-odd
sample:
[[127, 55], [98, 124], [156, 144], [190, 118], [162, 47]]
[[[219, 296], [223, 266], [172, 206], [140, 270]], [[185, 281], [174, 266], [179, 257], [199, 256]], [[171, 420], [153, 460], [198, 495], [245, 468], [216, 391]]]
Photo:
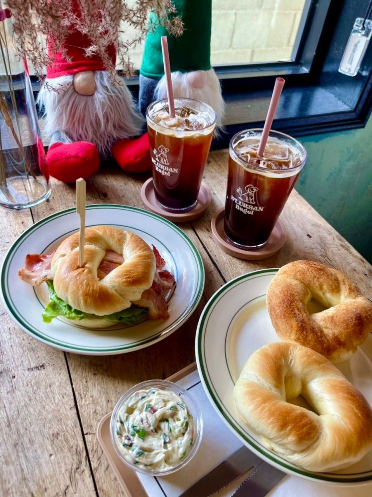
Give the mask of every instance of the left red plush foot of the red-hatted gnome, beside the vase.
[[97, 147], [88, 141], [53, 143], [47, 153], [48, 172], [64, 183], [90, 178], [100, 167]]

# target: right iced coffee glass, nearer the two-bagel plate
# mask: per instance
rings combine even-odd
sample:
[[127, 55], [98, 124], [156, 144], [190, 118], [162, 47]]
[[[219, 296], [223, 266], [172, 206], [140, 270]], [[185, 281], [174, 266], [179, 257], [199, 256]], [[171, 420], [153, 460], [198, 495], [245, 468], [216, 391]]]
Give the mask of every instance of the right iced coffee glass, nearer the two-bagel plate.
[[270, 131], [264, 156], [257, 155], [262, 129], [230, 141], [225, 235], [241, 248], [265, 245], [306, 161], [301, 143]]

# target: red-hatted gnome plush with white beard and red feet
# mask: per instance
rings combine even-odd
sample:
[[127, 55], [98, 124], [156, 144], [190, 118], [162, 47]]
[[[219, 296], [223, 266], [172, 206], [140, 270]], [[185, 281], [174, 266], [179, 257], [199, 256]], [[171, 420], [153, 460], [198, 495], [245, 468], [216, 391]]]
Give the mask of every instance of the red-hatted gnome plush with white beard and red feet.
[[[133, 139], [140, 134], [142, 118], [134, 110], [131, 93], [110, 77], [97, 55], [87, 57], [85, 49], [91, 45], [87, 35], [74, 29], [65, 41], [64, 54], [48, 41], [53, 63], [47, 67], [38, 101], [44, 107], [45, 133], [51, 138], [48, 172], [65, 183], [91, 177], [101, 158], [111, 154], [129, 172], [151, 167], [147, 134]], [[115, 67], [113, 45], [108, 55]]]

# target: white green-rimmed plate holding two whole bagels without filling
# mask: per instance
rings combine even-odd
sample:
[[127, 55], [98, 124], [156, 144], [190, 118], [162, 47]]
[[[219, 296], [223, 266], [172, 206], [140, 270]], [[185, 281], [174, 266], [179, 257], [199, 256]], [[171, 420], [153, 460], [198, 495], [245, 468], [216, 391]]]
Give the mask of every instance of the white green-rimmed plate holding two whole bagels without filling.
[[[372, 450], [358, 463], [331, 473], [312, 473], [264, 447], [260, 436], [238, 415], [233, 388], [249, 356], [271, 342], [280, 342], [266, 307], [267, 288], [278, 269], [253, 271], [235, 278], [210, 298], [198, 323], [195, 348], [199, 375], [217, 413], [238, 438], [282, 471], [330, 485], [361, 485], [372, 481]], [[313, 309], [316, 312], [316, 309]], [[372, 404], [372, 337], [349, 361], [337, 365]]]

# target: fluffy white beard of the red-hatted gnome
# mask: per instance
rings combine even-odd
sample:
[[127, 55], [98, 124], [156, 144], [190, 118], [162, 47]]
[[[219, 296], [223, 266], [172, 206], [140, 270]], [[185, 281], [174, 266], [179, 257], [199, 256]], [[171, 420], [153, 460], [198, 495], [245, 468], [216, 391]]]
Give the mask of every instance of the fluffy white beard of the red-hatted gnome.
[[88, 141], [107, 157], [116, 141], [140, 133], [143, 119], [134, 112], [125, 84], [113, 83], [107, 71], [95, 71], [94, 76], [92, 96], [75, 91], [72, 75], [47, 79], [38, 103], [44, 107], [45, 133], [52, 142]]

